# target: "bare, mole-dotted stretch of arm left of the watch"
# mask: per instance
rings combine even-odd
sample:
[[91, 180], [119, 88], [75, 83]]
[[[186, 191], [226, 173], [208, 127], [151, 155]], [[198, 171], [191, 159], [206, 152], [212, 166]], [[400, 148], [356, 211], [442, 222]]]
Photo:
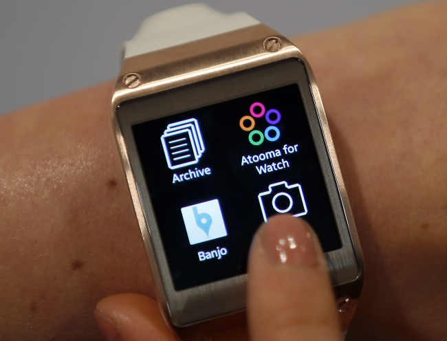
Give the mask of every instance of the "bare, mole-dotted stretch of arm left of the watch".
[[67, 340], [88, 340], [100, 298], [153, 295], [110, 96], [106, 83], [0, 120], [1, 340], [46, 340], [67, 323]]

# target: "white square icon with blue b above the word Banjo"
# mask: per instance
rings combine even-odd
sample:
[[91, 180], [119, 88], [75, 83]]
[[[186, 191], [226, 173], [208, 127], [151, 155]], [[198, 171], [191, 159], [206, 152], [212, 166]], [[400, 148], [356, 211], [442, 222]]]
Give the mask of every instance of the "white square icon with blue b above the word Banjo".
[[214, 199], [182, 208], [190, 245], [227, 235], [219, 200]]

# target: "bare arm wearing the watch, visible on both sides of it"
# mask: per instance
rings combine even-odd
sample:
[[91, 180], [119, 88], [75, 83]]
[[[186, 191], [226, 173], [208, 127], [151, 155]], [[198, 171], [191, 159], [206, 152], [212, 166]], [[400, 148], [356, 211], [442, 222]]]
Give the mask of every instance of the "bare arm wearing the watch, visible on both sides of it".
[[[447, 335], [447, 3], [295, 37], [365, 260], [352, 340]], [[113, 83], [0, 117], [0, 340], [98, 340], [105, 296], [155, 297], [109, 123]]]

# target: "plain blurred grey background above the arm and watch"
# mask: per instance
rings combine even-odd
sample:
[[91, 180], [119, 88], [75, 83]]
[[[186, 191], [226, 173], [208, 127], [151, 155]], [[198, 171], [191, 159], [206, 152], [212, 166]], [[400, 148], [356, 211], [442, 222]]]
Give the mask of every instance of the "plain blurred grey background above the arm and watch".
[[[114, 78], [120, 48], [149, 15], [195, 1], [0, 0], [0, 113]], [[208, 0], [302, 34], [409, 0]]]

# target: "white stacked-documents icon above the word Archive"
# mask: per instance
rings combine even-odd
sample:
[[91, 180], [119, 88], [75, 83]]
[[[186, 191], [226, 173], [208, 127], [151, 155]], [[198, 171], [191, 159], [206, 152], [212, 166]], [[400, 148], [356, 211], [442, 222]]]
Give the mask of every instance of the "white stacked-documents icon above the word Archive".
[[195, 118], [168, 124], [161, 140], [166, 162], [171, 169], [197, 164], [205, 151]]

